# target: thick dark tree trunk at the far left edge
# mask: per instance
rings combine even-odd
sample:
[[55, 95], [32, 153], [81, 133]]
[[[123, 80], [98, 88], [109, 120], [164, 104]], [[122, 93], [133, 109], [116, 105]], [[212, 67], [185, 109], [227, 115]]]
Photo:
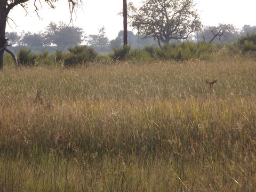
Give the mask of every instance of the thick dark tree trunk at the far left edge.
[[[6, 27], [7, 11], [6, 6], [0, 5], [0, 49], [5, 43], [5, 27]], [[4, 49], [0, 51], [0, 69], [3, 68]]]

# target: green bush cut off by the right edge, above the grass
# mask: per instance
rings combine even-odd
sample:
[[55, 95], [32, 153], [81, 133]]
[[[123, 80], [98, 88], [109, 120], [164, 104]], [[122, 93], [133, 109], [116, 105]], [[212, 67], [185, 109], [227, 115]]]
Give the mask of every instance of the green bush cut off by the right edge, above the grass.
[[247, 33], [246, 36], [238, 39], [238, 43], [244, 52], [256, 51], [256, 33]]

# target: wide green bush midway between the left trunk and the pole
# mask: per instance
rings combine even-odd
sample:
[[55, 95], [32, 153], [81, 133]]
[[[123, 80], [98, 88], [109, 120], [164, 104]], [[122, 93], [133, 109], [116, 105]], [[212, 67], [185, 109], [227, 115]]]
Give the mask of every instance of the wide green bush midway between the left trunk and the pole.
[[98, 53], [89, 46], [75, 46], [68, 48], [69, 53], [64, 58], [64, 65], [67, 67], [93, 62]]

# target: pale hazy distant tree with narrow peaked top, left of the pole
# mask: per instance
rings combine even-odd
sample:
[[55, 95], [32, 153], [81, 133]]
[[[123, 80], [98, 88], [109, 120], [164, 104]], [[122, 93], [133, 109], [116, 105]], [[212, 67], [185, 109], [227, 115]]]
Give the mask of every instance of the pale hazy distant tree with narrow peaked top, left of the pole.
[[109, 51], [109, 39], [106, 37], [105, 27], [101, 27], [97, 35], [89, 35], [87, 44], [98, 52]]

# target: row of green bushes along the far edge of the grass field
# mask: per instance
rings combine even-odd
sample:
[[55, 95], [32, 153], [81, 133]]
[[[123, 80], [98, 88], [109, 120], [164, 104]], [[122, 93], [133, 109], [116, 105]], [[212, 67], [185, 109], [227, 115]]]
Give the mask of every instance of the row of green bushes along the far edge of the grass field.
[[[227, 54], [244, 54], [251, 52], [255, 54], [256, 51], [256, 35], [247, 34], [238, 39], [235, 43], [230, 44], [212, 44], [212, 43], [191, 43], [183, 42], [180, 44], [165, 44], [161, 48], [154, 46], [145, 46], [143, 49], [131, 49], [131, 46], [123, 46], [114, 49], [111, 53], [99, 54], [93, 48], [82, 45], [69, 47], [68, 53], [56, 51], [55, 54], [50, 54], [47, 50], [41, 53], [32, 53], [31, 50], [20, 49], [18, 52], [18, 61], [21, 66], [35, 66], [38, 63], [51, 65], [55, 63], [58, 65], [71, 67], [76, 65], [88, 65], [95, 61], [102, 61], [104, 63], [111, 63], [113, 61], [134, 60], [175, 60], [175, 61], [188, 61], [192, 58], [200, 60], [211, 61], [214, 60], [214, 54], [220, 50], [225, 49]], [[6, 62], [11, 65], [11, 57], [5, 55]]]

